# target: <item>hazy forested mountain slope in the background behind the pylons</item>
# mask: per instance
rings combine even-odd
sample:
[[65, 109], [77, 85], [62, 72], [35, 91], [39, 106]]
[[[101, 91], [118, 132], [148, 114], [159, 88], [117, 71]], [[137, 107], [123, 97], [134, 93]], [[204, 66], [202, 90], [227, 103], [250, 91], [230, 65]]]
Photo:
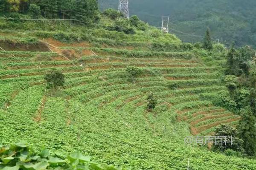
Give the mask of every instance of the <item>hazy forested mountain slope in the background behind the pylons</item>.
[[[99, 0], [100, 7], [118, 8], [119, 0]], [[229, 45], [256, 44], [255, 0], [130, 0], [130, 14], [160, 27], [170, 16], [170, 31], [185, 42], [201, 41], [207, 27], [212, 37]], [[192, 34], [192, 35], [191, 35]], [[199, 36], [193, 36], [199, 35]]]

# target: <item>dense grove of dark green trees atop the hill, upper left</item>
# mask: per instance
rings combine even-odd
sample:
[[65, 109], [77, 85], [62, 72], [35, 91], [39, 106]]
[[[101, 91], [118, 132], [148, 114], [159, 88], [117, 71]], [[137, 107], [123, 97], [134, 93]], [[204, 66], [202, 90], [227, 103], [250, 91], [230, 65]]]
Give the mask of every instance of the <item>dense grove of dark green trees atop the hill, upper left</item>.
[[[99, 19], [97, 0], [0, 0], [0, 12], [20, 12], [27, 14], [36, 11], [35, 4], [40, 7], [45, 18], [68, 18], [90, 23]], [[33, 15], [32, 17], [35, 17]]]

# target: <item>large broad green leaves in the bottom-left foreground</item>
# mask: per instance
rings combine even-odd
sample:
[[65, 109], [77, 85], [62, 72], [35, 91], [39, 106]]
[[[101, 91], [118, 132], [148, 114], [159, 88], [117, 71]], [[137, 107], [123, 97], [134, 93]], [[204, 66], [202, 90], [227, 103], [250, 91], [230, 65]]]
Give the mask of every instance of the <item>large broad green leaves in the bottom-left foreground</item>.
[[0, 170], [128, 170], [106, 164], [98, 164], [74, 152], [67, 158], [52, 156], [47, 149], [35, 152], [26, 143], [0, 144]]

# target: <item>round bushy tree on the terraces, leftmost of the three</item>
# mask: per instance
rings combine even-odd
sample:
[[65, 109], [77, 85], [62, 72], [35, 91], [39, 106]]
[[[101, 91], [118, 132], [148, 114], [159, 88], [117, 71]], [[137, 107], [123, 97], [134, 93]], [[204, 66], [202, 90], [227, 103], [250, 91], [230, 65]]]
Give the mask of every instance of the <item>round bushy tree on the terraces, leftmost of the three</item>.
[[58, 86], [63, 86], [65, 83], [64, 74], [57, 70], [52, 70], [46, 74], [44, 79], [47, 81], [47, 86], [52, 88], [52, 91], [55, 91]]

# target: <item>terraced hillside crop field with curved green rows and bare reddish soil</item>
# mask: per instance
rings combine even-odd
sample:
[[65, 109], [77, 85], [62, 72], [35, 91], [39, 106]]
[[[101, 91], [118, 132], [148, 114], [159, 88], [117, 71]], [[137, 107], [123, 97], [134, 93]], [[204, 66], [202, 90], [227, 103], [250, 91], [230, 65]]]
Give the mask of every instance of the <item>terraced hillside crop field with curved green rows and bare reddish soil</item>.
[[[192, 52], [49, 45], [49, 51], [0, 51], [0, 139], [27, 141], [64, 157], [143, 170], [256, 170], [256, 161], [187, 145], [186, 136], [209, 136], [239, 116], [202, 96], [227, 91], [222, 68]], [[217, 62], [216, 62], [217, 63]], [[125, 70], [142, 74], [131, 82]], [[65, 84], [46, 94], [44, 75], [56, 68]], [[150, 92], [157, 99], [146, 111]]]

